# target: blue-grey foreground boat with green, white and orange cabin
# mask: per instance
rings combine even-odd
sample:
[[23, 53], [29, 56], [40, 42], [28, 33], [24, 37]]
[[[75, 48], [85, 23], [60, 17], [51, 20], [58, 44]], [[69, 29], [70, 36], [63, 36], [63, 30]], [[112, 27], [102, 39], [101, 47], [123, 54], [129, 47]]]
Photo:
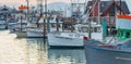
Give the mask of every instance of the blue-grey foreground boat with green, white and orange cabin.
[[[109, 41], [85, 41], [86, 59], [95, 60], [87, 64], [130, 64], [131, 63], [131, 15], [117, 15], [117, 36]], [[108, 39], [107, 39], [108, 40]], [[95, 57], [91, 57], [95, 56]], [[106, 57], [106, 59], [105, 59]], [[109, 62], [109, 60], [112, 60]], [[102, 62], [103, 61], [103, 62]]]

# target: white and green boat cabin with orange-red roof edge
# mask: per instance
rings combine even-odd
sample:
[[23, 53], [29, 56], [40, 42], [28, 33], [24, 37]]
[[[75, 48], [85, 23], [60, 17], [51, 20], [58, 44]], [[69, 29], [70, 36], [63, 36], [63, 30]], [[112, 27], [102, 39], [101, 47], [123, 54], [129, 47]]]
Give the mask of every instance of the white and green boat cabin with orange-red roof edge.
[[117, 15], [116, 28], [119, 39], [131, 38], [131, 15]]

